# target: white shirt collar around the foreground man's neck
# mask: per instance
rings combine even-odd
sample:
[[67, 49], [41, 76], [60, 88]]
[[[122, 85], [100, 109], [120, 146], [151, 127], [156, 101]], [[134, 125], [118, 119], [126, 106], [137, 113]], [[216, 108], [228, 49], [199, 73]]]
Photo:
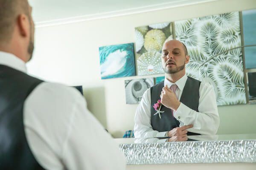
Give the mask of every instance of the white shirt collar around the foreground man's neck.
[[11, 53], [0, 51], [0, 64], [26, 73], [25, 62]]

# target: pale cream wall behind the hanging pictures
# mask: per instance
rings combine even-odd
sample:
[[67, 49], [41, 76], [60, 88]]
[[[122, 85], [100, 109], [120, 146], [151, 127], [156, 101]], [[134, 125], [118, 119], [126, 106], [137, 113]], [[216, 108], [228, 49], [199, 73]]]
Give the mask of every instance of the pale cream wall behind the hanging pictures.
[[[125, 102], [125, 77], [101, 80], [99, 47], [135, 42], [134, 28], [166, 21], [256, 8], [256, 0], [218, 0], [178, 8], [36, 28], [28, 72], [48, 81], [83, 85], [89, 110], [114, 137], [134, 126], [137, 105]], [[254, 35], [256, 36], [256, 35]], [[256, 133], [256, 105], [218, 107], [218, 134]]]

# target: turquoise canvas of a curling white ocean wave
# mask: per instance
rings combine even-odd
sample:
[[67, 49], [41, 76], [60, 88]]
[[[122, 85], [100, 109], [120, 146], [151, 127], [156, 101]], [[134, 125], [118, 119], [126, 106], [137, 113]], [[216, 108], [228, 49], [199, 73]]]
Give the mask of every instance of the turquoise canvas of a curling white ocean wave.
[[135, 76], [134, 43], [99, 48], [102, 79]]

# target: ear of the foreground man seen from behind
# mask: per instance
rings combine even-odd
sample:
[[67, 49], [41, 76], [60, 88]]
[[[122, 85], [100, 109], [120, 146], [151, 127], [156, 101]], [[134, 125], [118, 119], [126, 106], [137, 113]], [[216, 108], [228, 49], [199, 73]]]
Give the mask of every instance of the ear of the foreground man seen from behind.
[[29, 36], [29, 19], [25, 14], [20, 14], [17, 17], [17, 26], [22, 37]]

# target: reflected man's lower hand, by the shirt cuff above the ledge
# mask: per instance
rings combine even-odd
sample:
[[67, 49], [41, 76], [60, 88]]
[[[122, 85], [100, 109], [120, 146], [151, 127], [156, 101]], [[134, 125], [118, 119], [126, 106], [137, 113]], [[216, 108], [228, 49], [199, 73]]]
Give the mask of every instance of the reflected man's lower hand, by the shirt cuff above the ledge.
[[193, 125], [186, 125], [182, 127], [175, 127], [172, 130], [168, 132], [168, 136], [171, 137], [168, 139], [169, 142], [175, 142], [175, 141], [187, 141], [187, 133], [188, 131], [186, 129], [189, 129], [193, 127]]

